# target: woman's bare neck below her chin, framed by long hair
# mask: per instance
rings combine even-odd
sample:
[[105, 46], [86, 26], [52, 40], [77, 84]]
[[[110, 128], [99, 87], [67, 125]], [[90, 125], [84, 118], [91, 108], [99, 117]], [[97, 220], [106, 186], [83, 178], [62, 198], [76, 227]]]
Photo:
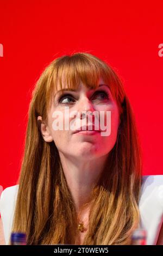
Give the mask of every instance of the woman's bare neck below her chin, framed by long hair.
[[91, 191], [97, 184], [107, 157], [108, 155], [105, 155], [90, 161], [79, 161], [75, 157], [66, 157], [60, 153], [62, 169], [77, 212], [89, 202]]

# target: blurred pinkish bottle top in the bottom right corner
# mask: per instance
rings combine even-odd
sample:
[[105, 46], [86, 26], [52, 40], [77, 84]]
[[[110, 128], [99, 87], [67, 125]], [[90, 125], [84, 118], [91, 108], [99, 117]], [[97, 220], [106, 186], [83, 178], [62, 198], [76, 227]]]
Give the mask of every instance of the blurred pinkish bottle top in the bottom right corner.
[[146, 229], [136, 229], [131, 235], [131, 245], [146, 245], [147, 231]]

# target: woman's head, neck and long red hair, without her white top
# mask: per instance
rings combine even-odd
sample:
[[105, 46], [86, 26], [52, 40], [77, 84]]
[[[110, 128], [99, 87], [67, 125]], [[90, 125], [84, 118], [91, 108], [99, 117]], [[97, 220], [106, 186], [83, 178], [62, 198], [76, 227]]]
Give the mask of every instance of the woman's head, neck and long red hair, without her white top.
[[[111, 113], [109, 135], [78, 131], [95, 111], [105, 122]], [[55, 113], [78, 129], [57, 130]], [[130, 245], [141, 175], [134, 114], [116, 72], [89, 53], [55, 59], [33, 90], [12, 231], [26, 232], [28, 245]]]

